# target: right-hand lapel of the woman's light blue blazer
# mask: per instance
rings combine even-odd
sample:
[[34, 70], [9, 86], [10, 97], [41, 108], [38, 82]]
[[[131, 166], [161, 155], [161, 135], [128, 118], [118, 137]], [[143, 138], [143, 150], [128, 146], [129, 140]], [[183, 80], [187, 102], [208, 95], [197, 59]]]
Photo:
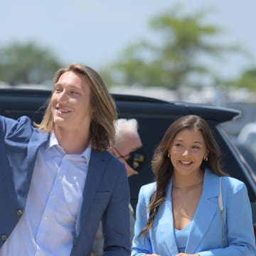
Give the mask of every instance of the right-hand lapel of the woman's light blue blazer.
[[196, 251], [213, 220], [216, 210], [218, 210], [218, 205], [210, 201], [210, 198], [218, 197], [218, 181], [215, 181], [218, 178], [210, 171], [205, 171], [203, 193], [191, 223], [191, 232], [186, 245], [187, 253]]

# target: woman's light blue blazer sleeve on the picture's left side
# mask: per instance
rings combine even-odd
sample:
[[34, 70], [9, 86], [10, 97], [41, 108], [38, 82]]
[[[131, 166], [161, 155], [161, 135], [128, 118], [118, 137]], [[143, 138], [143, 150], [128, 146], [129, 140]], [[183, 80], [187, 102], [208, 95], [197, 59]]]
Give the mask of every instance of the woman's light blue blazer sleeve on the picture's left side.
[[134, 225], [134, 239], [132, 242], [132, 256], [142, 256], [151, 254], [151, 242], [149, 233], [146, 236], [139, 236], [139, 233], [146, 227], [147, 222], [147, 203], [144, 197], [144, 186], [139, 191], [139, 198], [136, 210], [136, 221]]

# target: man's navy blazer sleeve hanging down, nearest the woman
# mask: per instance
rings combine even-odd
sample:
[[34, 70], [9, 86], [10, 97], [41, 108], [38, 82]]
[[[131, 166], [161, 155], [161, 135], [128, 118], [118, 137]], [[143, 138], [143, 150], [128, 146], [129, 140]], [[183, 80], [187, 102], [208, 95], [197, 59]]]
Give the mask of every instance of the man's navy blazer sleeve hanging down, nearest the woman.
[[118, 166], [112, 197], [102, 218], [103, 256], [128, 256], [131, 253], [129, 183], [124, 165]]

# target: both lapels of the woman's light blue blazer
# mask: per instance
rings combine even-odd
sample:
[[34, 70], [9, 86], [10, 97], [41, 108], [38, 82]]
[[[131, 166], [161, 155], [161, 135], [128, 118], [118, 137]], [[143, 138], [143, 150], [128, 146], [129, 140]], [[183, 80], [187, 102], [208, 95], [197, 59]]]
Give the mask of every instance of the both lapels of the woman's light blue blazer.
[[[177, 255], [178, 249], [174, 234], [174, 219], [171, 202], [172, 181], [166, 189], [166, 200], [159, 207], [159, 212], [151, 229], [152, 241], [156, 241], [156, 251], [160, 255]], [[205, 171], [203, 193], [191, 223], [191, 232], [186, 245], [187, 253], [194, 253], [203, 240], [216, 210], [218, 210], [219, 177], [211, 171]], [[212, 200], [215, 198], [214, 200]]]

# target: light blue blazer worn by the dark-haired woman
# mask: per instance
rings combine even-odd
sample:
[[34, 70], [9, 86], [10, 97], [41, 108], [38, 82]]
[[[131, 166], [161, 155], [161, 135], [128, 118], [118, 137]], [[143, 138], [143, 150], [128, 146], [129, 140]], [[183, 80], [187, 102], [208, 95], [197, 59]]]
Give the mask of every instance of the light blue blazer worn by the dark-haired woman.
[[[222, 178], [225, 222], [225, 247], [222, 247], [222, 225], [218, 206], [220, 177], [206, 170], [201, 195], [188, 235], [186, 253], [201, 256], [255, 256], [252, 210], [245, 184], [235, 178]], [[174, 234], [171, 203], [172, 182], [166, 188], [166, 199], [159, 207], [149, 233], [139, 237], [149, 218], [149, 198], [156, 188], [150, 183], [139, 191], [137, 220], [134, 227], [132, 256], [155, 253], [161, 256], [178, 254]]]

